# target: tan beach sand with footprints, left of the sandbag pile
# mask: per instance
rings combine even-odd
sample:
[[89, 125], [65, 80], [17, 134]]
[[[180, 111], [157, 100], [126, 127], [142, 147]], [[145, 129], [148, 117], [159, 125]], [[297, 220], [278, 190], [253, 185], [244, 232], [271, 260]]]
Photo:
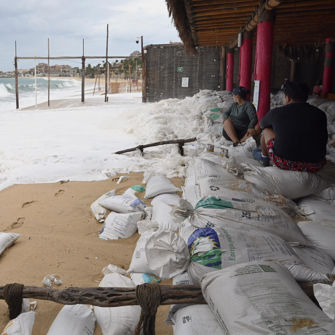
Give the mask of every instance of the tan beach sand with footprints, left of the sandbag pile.
[[[136, 242], [136, 232], [128, 239], [102, 241], [98, 233], [102, 223], [96, 221], [90, 205], [107, 191], [122, 194], [133, 185], [143, 185], [143, 173], [130, 173], [121, 184], [112, 178], [98, 182], [60, 182], [55, 184], [14, 185], [0, 192], [0, 231], [22, 236], [0, 256], [1, 285], [18, 282], [26, 286], [43, 286], [46, 275], [57, 274], [65, 289], [69, 286], [94, 287], [103, 278], [102, 269], [114, 264], [128, 270]], [[172, 178], [178, 187], [184, 179]], [[144, 194], [137, 193], [143, 200]], [[143, 200], [150, 206], [151, 199]], [[109, 211], [108, 211], [109, 213]], [[171, 285], [172, 280], [161, 282]], [[32, 301], [32, 299], [30, 299]], [[33, 334], [47, 334], [62, 308], [54, 302], [38, 300]], [[160, 306], [156, 318], [157, 334], [173, 334], [164, 324], [170, 306]], [[4, 300], [0, 302], [0, 329], [9, 321]], [[96, 325], [94, 335], [102, 335]]]

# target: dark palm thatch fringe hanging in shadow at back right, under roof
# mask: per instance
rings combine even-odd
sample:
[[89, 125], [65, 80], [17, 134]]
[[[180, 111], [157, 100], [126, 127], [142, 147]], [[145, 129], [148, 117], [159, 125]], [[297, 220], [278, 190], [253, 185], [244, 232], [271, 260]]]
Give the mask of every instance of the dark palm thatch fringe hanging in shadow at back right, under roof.
[[284, 44], [283, 46], [278, 46], [278, 50], [284, 58], [295, 62], [310, 62], [324, 57], [323, 48], [317, 47], [316, 45], [291, 46]]

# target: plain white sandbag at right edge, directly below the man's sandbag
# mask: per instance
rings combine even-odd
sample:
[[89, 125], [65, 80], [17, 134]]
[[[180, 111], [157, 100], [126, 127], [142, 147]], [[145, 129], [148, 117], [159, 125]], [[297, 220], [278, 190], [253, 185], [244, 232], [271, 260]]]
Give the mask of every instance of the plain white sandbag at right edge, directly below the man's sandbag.
[[335, 223], [335, 206], [314, 195], [299, 199], [297, 203], [309, 219], [328, 220]]

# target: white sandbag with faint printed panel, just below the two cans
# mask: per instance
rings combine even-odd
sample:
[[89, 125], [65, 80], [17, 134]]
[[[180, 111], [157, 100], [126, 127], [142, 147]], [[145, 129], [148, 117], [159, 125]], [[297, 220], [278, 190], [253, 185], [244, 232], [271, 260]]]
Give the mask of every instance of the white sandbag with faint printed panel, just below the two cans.
[[[221, 157], [220, 157], [221, 158]], [[234, 176], [227, 171], [222, 165], [211, 162], [200, 157], [193, 157], [194, 160], [194, 174], [195, 184], [199, 185], [201, 178], [227, 177], [234, 178]]]

